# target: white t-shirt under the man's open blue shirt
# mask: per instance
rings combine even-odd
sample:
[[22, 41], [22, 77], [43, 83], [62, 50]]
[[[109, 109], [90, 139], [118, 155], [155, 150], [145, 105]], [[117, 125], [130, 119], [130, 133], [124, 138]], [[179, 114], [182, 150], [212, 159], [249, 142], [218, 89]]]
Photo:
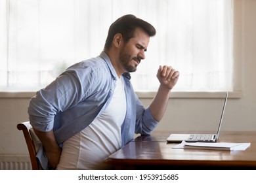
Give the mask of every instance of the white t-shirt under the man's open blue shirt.
[[121, 76], [106, 110], [64, 142], [57, 169], [111, 169], [102, 161], [121, 148], [121, 125], [125, 114], [126, 96]]

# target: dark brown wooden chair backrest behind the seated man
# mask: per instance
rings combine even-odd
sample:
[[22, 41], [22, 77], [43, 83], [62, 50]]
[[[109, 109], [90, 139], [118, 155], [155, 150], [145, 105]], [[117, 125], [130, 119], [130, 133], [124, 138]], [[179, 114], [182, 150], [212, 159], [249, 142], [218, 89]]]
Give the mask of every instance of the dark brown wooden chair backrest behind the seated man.
[[30, 122], [22, 122], [17, 124], [18, 130], [22, 130], [26, 144], [28, 146], [28, 152], [30, 154], [30, 161], [33, 170], [41, 169], [41, 165], [37, 158], [35, 157], [39, 147], [41, 146], [41, 141], [38, 139], [37, 135], [33, 131], [32, 125]]

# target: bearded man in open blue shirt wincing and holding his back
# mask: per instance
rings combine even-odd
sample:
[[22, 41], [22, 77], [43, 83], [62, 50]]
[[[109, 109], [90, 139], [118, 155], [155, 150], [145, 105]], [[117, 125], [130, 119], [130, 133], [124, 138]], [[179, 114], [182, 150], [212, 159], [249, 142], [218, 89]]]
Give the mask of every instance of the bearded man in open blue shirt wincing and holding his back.
[[118, 18], [100, 56], [72, 65], [32, 98], [28, 113], [43, 144], [37, 156], [44, 169], [110, 169], [104, 159], [135, 133], [152, 133], [179, 78], [172, 67], [160, 66], [160, 87], [148, 108], [133, 91], [129, 73], [155, 34], [133, 15]]

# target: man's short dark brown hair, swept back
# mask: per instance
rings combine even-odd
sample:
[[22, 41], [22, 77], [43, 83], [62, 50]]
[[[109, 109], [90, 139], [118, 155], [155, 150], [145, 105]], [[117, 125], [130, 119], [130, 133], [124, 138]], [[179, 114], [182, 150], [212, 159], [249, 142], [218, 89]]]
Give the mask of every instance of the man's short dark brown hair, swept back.
[[104, 50], [111, 47], [114, 36], [121, 33], [125, 42], [134, 37], [134, 31], [137, 27], [142, 28], [150, 37], [156, 35], [156, 29], [148, 22], [137, 18], [133, 14], [127, 14], [118, 18], [110, 25], [108, 29], [108, 37], [105, 42]]

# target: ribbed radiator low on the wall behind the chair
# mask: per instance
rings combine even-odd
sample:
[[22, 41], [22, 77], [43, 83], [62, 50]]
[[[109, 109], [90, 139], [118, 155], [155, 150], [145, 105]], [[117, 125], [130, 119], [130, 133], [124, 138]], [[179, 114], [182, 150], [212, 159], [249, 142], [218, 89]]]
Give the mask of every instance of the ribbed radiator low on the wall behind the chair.
[[28, 156], [0, 156], [0, 170], [31, 170]]

